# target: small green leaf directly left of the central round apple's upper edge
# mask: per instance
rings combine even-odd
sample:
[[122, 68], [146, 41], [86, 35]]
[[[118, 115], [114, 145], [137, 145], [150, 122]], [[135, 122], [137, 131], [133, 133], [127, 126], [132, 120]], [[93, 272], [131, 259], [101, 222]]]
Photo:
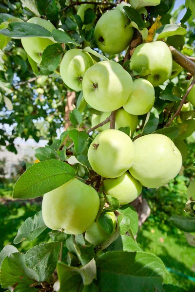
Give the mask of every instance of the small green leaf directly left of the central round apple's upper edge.
[[85, 131], [79, 132], [78, 130], [73, 129], [69, 131], [68, 135], [74, 142], [76, 153], [78, 155], [81, 154], [85, 149], [86, 141], [89, 137], [88, 134]]

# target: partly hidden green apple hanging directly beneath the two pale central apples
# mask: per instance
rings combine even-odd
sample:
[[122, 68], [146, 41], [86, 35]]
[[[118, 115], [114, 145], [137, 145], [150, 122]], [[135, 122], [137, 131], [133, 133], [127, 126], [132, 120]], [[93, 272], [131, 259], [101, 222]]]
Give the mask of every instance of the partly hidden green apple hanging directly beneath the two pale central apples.
[[103, 191], [106, 195], [118, 199], [120, 205], [129, 204], [140, 195], [142, 185], [128, 171], [116, 179], [103, 181]]

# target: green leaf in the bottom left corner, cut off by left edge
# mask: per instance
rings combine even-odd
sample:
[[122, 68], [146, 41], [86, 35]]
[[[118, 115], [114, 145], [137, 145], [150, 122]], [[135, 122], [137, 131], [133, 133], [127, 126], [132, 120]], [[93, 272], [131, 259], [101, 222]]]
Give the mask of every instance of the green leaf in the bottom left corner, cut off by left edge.
[[14, 286], [20, 291], [39, 282], [39, 275], [35, 270], [26, 267], [25, 256], [20, 253], [11, 254], [3, 260], [0, 277], [2, 288], [11, 290]]

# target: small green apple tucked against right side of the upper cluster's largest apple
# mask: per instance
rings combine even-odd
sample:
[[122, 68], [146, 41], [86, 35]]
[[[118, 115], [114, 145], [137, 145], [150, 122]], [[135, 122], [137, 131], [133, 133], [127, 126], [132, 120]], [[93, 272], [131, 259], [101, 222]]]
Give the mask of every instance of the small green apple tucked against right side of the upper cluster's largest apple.
[[133, 81], [131, 92], [123, 109], [134, 115], [142, 115], [152, 109], [155, 102], [155, 89], [146, 79], [138, 78]]

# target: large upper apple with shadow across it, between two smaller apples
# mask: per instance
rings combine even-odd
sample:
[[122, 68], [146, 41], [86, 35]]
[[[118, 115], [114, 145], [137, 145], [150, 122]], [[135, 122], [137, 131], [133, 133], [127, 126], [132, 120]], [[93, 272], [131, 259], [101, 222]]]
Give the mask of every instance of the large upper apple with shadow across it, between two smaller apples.
[[121, 108], [132, 89], [131, 75], [114, 61], [101, 61], [90, 67], [82, 81], [86, 102], [99, 111]]

